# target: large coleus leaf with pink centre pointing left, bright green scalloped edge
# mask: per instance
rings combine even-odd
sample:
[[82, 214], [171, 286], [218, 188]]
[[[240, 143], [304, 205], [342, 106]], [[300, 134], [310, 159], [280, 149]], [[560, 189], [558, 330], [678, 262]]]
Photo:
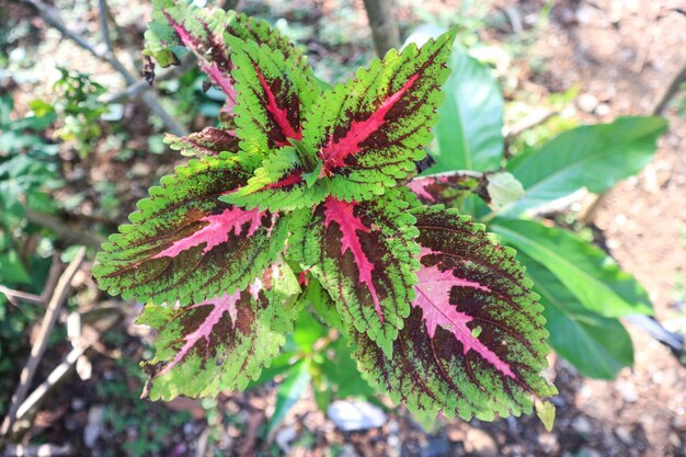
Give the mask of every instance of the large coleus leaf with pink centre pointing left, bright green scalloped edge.
[[133, 225], [103, 244], [93, 267], [100, 286], [140, 301], [201, 302], [244, 288], [282, 252], [288, 216], [247, 210], [218, 197], [248, 182], [243, 155], [194, 159], [150, 188]]

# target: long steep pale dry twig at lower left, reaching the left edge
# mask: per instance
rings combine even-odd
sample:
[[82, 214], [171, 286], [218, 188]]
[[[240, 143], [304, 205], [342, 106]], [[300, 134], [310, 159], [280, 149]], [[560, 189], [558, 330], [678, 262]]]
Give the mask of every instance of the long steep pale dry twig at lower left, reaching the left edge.
[[69, 294], [71, 279], [77, 274], [79, 269], [81, 267], [81, 263], [83, 263], [83, 259], [85, 258], [85, 248], [79, 249], [75, 259], [71, 261], [65, 273], [60, 276], [57, 282], [57, 286], [50, 296], [50, 300], [47, 305], [47, 309], [45, 310], [45, 317], [41, 322], [41, 329], [38, 330], [38, 336], [34, 342], [31, 354], [28, 355], [28, 359], [26, 361], [26, 365], [22, 369], [19, 386], [12, 396], [12, 404], [10, 405], [10, 410], [8, 411], [8, 415], [4, 418], [2, 426], [0, 427], [0, 435], [3, 438], [7, 438], [11, 435], [12, 430], [14, 427], [14, 423], [16, 421], [16, 413], [19, 411], [20, 405], [26, 398], [26, 393], [28, 393], [28, 388], [31, 387], [31, 382], [33, 380], [34, 375], [36, 374], [36, 368], [41, 363], [41, 358], [45, 353], [47, 347], [48, 338], [53, 328], [55, 327], [55, 322], [57, 321], [57, 317], [59, 316], [59, 310], [67, 299], [67, 295]]

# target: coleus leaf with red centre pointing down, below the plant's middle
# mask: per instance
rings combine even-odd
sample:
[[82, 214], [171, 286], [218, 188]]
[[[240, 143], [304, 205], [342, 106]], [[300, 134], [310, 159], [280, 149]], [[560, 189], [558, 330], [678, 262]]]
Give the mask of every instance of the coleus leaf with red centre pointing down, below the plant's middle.
[[[410, 311], [419, 254], [414, 218], [400, 192], [357, 203], [329, 196], [302, 218], [289, 254], [321, 282], [341, 319], [375, 341], [390, 357]], [[297, 224], [294, 222], [294, 226]]]

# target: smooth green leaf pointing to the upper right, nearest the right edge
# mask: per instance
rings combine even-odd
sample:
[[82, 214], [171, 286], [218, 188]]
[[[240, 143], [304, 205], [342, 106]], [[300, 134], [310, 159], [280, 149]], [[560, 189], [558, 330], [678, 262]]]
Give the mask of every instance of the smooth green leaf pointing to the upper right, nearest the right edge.
[[611, 124], [565, 132], [542, 148], [515, 157], [507, 171], [526, 194], [501, 214], [514, 217], [584, 186], [596, 194], [608, 191], [645, 167], [665, 129], [661, 117], [619, 117]]

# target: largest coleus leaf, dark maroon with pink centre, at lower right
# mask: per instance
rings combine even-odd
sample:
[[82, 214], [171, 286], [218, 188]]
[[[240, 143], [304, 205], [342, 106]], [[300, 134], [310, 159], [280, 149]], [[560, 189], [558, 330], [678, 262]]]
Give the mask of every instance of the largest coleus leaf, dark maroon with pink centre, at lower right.
[[457, 212], [413, 212], [421, 245], [412, 310], [393, 357], [353, 332], [368, 378], [410, 410], [492, 420], [530, 412], [556, 392], [541, 307], [514, 251]]

